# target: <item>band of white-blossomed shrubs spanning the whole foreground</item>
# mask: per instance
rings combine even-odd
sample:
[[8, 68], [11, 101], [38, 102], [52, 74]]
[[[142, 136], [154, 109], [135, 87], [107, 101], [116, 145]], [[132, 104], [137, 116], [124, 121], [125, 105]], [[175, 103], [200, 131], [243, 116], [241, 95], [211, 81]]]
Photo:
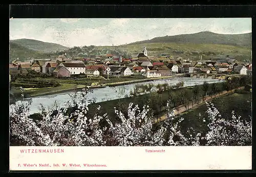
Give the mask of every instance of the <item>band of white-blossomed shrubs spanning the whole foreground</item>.
[[[22, 90], [22, 88], [21, 88]], [[23, 90], [22, 90], [23, 92]], [[16, 103], [10, 112], [11, 145], [29, 146], [198, 146], [198, 145], [250, 145], [251, 118], [242, 120], [232, 112], [224, 120], [212, 103], [207, 103], [207, 116], [200, 117], [200, 123], [208, 127], [206, 132], [197, 132], [187, 127], [181, 131], [184, 120], [174, 115], [167, 102], [167, 120], [155, 124], [151, 108], [130, 103], [127, 112], [114, 107], [116, 122], [108, 114], [101, 113], [101, 107], [89, 116], [87, 94], [83, 89], [71, 94], [71, 101], [63, 107], [41, 109], [41, 119], [30, 118], [31, 100]]]

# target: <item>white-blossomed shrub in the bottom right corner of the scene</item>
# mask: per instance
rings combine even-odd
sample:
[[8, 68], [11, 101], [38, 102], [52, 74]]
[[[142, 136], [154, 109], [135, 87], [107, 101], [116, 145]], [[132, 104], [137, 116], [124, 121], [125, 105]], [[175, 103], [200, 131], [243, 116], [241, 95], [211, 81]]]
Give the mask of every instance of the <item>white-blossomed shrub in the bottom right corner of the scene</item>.
[[236, 146], [251, 145], [251, 117], [242, 120], [234, 111], [230, 119], [222, 119], [219, 110], [214, 104], [207, 103], [207, 122], [209, 131], [205, 135], [206, 145]]

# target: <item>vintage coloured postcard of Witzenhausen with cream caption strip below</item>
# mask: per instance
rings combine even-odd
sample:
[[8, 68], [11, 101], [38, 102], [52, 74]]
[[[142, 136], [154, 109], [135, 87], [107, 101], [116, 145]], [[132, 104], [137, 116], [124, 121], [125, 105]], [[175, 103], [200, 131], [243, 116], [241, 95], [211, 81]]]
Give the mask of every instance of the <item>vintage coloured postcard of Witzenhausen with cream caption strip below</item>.
[[251, 18], [10, 18], [10, 171], [249, 170]]

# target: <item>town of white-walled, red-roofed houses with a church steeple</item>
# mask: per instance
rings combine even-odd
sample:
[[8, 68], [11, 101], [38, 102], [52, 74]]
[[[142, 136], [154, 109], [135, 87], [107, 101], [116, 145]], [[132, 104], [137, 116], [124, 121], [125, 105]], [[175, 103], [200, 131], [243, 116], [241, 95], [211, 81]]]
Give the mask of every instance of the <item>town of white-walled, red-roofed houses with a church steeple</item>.
[[26, 75], [28, 70], [55, 78], [97, 78], [99, 76], [106, 79], [125, 76], [157, 78], [178, 73], [252, 75], [252, 63], [238, 62], [232, 56], [214, 56], [211, 60], [202, 60], [202, 56], [199, 56], [195, 61], [166, 54], [148, 56], [146, 47], [133, 58], [106, 54], [95, 58], [71, 59], [63, 54], [54, 59], [31, 59], [25, 62], [14, 60], [10, 62], [9, 68], [10, 81], [13, 75]]

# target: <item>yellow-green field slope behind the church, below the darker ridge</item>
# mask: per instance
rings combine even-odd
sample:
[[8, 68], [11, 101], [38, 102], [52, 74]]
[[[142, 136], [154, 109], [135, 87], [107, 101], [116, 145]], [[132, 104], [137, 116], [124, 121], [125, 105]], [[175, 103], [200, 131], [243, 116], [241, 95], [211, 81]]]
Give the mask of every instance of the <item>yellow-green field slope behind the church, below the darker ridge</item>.
[[[146, 47], [149, 56], [161, 56], [162, 54], [172, 57], [182, 57], [183, 59], [198, 60], [202, 55], [202, 59], [208, 60], [217, 55], [230, 55], [239, 61], [244, 59], [251, 60], [251, 47], [231, 46], [209, 43], [131, 43], [118, 47], [101, 46], [98, 50], [112, 51], [118, 48], [119, 51], [126, 51], [131, 55], [138, 55]], [[68, 53], [68, 52], [67, 52]]]

